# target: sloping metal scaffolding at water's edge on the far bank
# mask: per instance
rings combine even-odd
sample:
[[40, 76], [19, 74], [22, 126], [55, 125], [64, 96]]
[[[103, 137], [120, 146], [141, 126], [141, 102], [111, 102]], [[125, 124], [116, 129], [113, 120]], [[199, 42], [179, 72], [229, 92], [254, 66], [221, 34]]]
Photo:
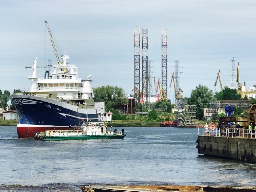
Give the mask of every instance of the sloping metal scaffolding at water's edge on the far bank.
[[180, 126], [194, 125], [196, 121], [196, 105], [185, 105], [182, 110]]

